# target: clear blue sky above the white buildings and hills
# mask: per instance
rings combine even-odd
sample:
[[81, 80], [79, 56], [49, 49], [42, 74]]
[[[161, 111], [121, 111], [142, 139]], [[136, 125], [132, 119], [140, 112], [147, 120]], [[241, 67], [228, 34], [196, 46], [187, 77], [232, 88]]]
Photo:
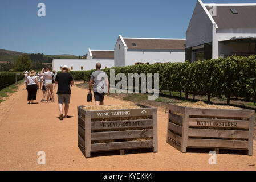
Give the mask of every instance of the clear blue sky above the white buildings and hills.
[[[38, 3], [46, 5], [39, 18]], [[0, 48], [26, 53], [83, 55], [113, 49], [118, 35], [185, 38], [197, 0], [1, 0]], [[203, 0], [256, 3], [256, 0]]]

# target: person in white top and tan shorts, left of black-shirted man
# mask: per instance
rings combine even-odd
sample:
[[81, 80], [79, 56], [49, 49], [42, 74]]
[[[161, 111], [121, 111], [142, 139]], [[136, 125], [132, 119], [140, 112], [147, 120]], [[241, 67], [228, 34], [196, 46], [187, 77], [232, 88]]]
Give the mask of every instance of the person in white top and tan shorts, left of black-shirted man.
[[54, 102], [54, 90], [53, 90], [53, 85], [52, 85], [52, 76], [54, 75], [54, 73], [52, 73], [50, 71], [50, 68], [46, 68], [46, 72], [44, 72], [44, 73], [43, 73], [43, 71], [44, 71], [44, 68], [42, 69], [41, 76], [44, 76], [44, 80], [45, 80], [47, 103], [49, 103], [49, 99], [50, 99], [49, 90], [51, 92], [52, 102]]

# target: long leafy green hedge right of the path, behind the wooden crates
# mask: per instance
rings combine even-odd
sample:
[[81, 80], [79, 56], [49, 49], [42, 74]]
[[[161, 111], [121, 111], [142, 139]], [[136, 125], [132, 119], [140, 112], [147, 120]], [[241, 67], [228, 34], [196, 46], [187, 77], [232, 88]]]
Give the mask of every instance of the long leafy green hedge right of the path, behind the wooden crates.
[[[73, 71], [75, 80], [89, 81], [92, 71]], [[108, 76], [110, 68], [103, 69]], [[211, 59], [190, 63], [138, 64], [116, 67], [115, 75], [124, 73], [159, 73], [159, 89], [172, 92], [185, 92], [196, 95], [226, 96], [227, 104], [231, 97], [256, 100], [256, 56], [229, 56], [225, 59]], [[153, 79], [152, 79], [153, 80]], [[119, 81], [116, 81], [119, 82]], [[181, 96], [181, 94], [180, 94]]]

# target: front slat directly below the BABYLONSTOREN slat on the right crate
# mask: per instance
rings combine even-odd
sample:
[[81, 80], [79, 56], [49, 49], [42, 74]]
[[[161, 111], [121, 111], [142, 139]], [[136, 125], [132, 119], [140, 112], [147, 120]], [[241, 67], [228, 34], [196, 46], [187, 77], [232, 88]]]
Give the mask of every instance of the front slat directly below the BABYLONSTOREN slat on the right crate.
[[214, 130], [214, 129], [189, 129], [189, 137], [216, 137], [216, 138], [241, 138], [247, 139], [249, 131], [239, 130]]

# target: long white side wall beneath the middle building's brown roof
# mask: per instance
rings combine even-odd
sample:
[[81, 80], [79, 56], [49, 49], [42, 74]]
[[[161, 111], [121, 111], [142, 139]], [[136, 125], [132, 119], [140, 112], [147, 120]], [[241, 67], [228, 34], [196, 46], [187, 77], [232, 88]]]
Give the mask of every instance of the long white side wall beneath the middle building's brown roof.
[[156, 62], [185, 62], [185, 50], [134, 50], [125, 51], [125, 66], [137, 62], [154, 64]]

